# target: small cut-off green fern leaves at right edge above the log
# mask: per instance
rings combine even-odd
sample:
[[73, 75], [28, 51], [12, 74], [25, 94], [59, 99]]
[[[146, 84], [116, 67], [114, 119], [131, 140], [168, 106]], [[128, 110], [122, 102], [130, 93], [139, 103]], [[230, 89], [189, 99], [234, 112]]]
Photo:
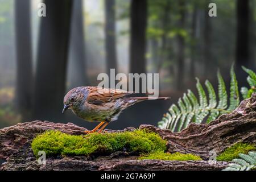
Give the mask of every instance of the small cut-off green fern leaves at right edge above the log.
[[247, 69], [245, 67], [242, 67], [243, 70], [248, 73], [247, 82], [250, 85], [250, 88], [242, 87], [240, 92], [243, 96], [243, 98], [250, 98], [251, 94], [253, 94], [256, 91], [256, 73], [252, 71], [251, 69]]

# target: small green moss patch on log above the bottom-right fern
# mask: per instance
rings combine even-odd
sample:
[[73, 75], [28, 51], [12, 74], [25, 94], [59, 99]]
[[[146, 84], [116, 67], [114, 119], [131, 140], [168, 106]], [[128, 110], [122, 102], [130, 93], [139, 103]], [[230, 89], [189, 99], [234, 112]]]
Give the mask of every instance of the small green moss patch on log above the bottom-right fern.
[[233, 146], [226, 148], [224, 152], [217, 156], [218, 161], [230, 161], [239, 158], [238, 154], [247, 154], [251, 150], [256, 150], [253, 144], [249, 143], [236, 143]]

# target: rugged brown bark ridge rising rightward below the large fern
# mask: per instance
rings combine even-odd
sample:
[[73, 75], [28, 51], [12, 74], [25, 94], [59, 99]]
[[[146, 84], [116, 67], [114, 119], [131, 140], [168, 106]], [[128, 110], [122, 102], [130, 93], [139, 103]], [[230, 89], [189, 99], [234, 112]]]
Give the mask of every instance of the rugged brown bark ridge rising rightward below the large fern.
[[[191, 123], [180, 133], [160, 130], [155, 126], [142, 125], [168, 140], [169, 152], [191, 153], [209, 159], [209, 155], [224, 151], [238, 142], [256, 144], [256, 94], [241, 102], [230, 114], [221, 115], [209, 124]], [[212, 152], [209, 152], [212, 151]]]

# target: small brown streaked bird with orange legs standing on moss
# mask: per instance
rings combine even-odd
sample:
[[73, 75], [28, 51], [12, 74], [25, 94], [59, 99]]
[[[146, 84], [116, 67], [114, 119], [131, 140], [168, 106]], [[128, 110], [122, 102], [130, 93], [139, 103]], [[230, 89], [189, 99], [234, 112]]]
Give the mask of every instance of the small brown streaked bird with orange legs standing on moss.
[[93, 133], [102, 125], [98, 133], [109, 124], [117, 120], [119, 114], [127, 107], [145, 100], [166, 100], [169, 97], [126, 97], [134, 92], [119, 89], [107, 89], [99, 86], [80, 86], [70, 90], [64, 97], [64, 109], [71, 109], [74, 114], [86, 121], [100, 122]]

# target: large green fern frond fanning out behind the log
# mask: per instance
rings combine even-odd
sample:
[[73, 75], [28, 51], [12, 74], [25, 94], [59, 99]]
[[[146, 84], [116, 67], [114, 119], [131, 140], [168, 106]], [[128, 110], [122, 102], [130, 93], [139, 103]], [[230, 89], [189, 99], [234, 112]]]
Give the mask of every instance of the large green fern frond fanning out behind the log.
[[207, 119], [207, 123], [209, 123], [216, 119], [220, 114], [230, 113], [234, 110], [238, 106], [240, 98], [233, 66], [230, 69], [229, 107], [225, 82], [220, 72], [217, 73], [217, 78], [218, 102], [212, 84], [208, 80], [205, 81], [205, 87], [208, 92], [207, 97], [199, 78], [196, 78], [196, 89], [199, 94], [199, 100], [197, 100], [197, 97], [191, 90], [188, 90], [187, 93], [183, 94], [183, 98], [179, 98], [177, 105], [171, 105], [169, 113], [164, 114], [164, 117], [162, 121], [158, 123], [158, 126], [161, 129], [170, 129], [179, 132], [181, 129], [186, 128], [191, 122], [202, 123], [204, 119]]

